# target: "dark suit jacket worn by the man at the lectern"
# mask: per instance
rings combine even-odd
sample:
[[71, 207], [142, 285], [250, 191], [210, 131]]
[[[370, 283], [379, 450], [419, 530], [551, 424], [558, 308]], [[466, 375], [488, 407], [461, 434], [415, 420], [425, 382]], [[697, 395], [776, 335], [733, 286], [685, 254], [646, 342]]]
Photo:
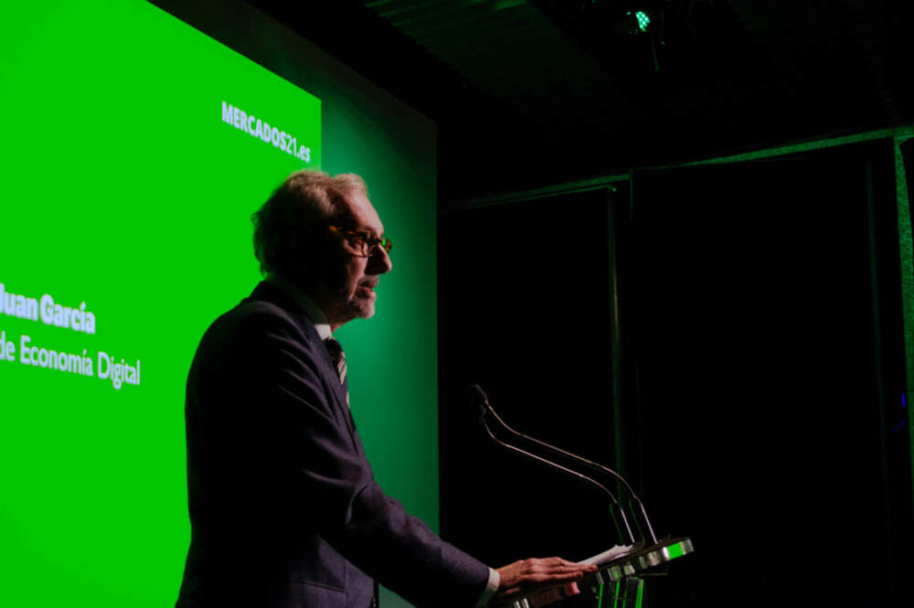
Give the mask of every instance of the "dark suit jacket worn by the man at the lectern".
[[186, 425], [179, 608], [364, 608], [372, 576], [418, 606], [482, 595], [488, 567], [374, 481], [324, 344], [280, 288], [260, 283], [209, 327]]

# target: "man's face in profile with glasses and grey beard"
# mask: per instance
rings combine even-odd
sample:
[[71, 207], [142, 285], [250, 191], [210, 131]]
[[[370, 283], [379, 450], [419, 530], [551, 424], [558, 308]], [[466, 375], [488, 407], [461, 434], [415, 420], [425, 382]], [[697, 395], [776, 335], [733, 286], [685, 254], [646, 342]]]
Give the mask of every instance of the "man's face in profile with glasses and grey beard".
[[[375, 237], [384, 235], [384, 226], [367, 197], [350, 193], [343, 201], [347, 211], [340, 228], [368, 232]], [[392, 264], [387, 251], [375, 247], [362, 255], [356, 243], [344, 233], [330, 233], [324, 279], [328, 302], [324, 314], [335, 329], [356, 318], [367, 319], [375, 314], [378, 277], [390, 272]]]

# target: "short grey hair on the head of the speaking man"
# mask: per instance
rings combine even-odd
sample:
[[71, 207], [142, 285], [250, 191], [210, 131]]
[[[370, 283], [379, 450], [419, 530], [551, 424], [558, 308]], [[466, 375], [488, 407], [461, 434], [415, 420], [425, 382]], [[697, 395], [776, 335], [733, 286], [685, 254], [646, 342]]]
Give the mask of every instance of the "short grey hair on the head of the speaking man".
[[325, 235], [314, 229], [345, 215], [341, 204], [350, 194], [368, 196], [365, 180], [353, 173], [331, 177], [303, 169], [285, 178], [263, 206], [251, 215], [254, 255], [260, 272], [277, 272], [295, 280], [317, 253]]

